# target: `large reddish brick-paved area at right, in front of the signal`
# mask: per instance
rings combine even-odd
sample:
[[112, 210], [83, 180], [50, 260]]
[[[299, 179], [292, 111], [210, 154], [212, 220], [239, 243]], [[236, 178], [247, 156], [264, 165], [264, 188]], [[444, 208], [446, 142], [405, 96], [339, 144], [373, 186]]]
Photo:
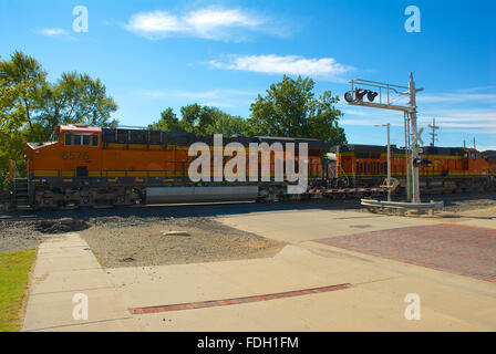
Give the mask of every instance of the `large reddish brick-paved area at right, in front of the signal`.
[[441, 223], [314, 241], [496, 282], [496, 230], [494, 229]]

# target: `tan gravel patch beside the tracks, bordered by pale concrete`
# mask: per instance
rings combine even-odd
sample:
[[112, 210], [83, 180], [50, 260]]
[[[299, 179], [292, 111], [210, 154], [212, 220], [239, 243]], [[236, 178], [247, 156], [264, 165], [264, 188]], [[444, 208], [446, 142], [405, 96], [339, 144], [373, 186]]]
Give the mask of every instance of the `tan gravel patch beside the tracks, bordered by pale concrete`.
[[99, 219], [81, 236], [107, 268], [272, 257], [285, 246], [203, 217]]

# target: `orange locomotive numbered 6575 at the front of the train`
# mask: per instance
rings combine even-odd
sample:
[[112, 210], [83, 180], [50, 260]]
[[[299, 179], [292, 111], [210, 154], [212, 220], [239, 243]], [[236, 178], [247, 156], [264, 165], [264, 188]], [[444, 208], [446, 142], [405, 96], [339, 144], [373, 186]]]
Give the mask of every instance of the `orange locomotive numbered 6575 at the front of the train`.
[[[113, 129], [86, 125], [59, 126], [53, 142], [25, 147], [29, 205], [55, 208], [68, 205], [128, 206], [137, 202], [177, 202], [245, 199], [283, 199], [289, 183], [275, 180], [275, 154], [268, 181], [193, 183], [188, 178], [190, 144], [204, 142], [213, 149], [213, 137], [189, 133]], [[316, 139], [230, 137], [224, 145], [241, 143], [307, 143], [309, 183], [322, 178], [321, 156], [328, 148]], [[297, 145], [298, 146], [298, 145]], [[247, 162], [249, 149], [247, 148]], [[285, 150], [283, 154], [288, 154]], [[298, 157], [298, 149], [296, 154]], [[226, 163], [228, 158], [225, 158]], [[297, 159], [298, 160], [298, 159]], [[259, 159], [260, 164], [260, 159]], [[249, 175], [247, 173], [247, 175]], [[18, 188], [19, 189], [19, 188]], [[24, 191], [24, 190], [23, 190]], [[19, 192], [19, 190], [17, 191]]]

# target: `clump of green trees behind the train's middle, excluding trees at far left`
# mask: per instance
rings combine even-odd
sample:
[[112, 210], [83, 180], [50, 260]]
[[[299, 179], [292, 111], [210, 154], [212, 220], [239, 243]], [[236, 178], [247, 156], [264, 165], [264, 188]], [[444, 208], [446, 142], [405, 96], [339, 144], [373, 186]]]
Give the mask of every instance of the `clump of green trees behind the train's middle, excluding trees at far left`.
[[225, 136], [317, 138], [335, 145], [344, 143], [344, 129], [338, 124], [342, 113], [335, 108], [339, 97], [330, 91], [316, 97], [313, 88], [314, 82], [310, 77], [293, 80], [285, 75], [281, 82], [270, 85], [264, 96], [258, 95], [250, 105], [251, 114], [247, 119], [195, 103], [180, 108], [180, 118], [168, 107], [148, 128], [203, 136], [217, 133]]

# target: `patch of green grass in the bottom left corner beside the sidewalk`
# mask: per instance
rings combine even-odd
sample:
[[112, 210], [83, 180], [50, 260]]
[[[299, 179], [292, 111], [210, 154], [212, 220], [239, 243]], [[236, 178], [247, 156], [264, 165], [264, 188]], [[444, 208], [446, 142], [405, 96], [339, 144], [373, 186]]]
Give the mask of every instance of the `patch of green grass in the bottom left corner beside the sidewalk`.
[[21, 308], [37, 250], [0, 253], [0, 332], [21, 329]]

